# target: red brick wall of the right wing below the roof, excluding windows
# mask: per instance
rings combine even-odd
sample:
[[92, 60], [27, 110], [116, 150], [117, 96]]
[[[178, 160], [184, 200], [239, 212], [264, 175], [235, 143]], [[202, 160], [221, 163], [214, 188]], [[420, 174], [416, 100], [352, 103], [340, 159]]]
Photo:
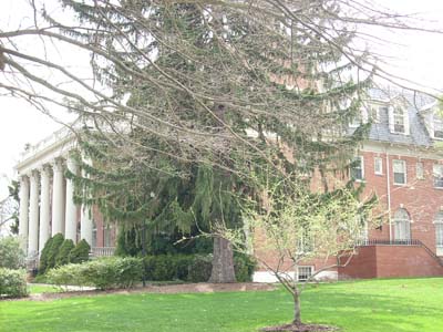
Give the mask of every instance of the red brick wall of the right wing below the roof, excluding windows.
[[[375, 194], [379, 198], [382, 224], [370, 229], [368, 239], [381, 240], [388, 245], [360, 247], [358, 253], [343, 268], [331, 269], [338, 272], [339, 279], [347, 278], [390, 278], [390, 277], [424, 277], [443, 276], [443, 267], [436, 255], [435, 216], [443, 209], [443, 189], [434, 187], [433, 165], [443, 162], [439, 154], [429, 149], [411, 149], [409, 146], [393, 146], [369, 142], [359, 152], [363, 158], [363, 199]], [[381, 174], [375, 174], [374, 158], [381, 158]], [[404, 160], [406, 166], [405, 184], [394, 184], [393, 162]], [[416, 164], [423, 166], [423, 177], [416, 174]], [[379, 172], [380, 173], [380, 172]], [[405, 242], [395, 246], [394, 214], [399, 209], [408, 211], [410, 218], [409, 240], [420, 240], [422, 245]], [[389, 241], [393, 241], [389, 246]], [[272, 252], [259, 249], [256, 239], [256, 255], [267, 263], [276, 266], [277, 257]], [[443, 259], [443, 257], [442, 257]], [[346, 260], [342, 259], [343, 263]], [[334, 258], [305, 262], [313, 270], [333, 264]], [[261, 271], [266, 270], [260, 267]], [[291, 270], [286, 263], [282, 270]], [[293, 270], [293, 269], [292, 269]]]

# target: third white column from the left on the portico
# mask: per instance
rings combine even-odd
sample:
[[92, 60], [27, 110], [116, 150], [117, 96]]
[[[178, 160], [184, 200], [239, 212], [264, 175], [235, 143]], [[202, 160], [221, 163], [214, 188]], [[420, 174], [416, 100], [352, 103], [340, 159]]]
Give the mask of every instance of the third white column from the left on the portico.
[[40, 234], [39, 249], [43, 250], [44, 243], [49, 239], [49, 219], [50, 219], [50, 191], [49, 191], [50, 169], [43, 166], [40, 172]]

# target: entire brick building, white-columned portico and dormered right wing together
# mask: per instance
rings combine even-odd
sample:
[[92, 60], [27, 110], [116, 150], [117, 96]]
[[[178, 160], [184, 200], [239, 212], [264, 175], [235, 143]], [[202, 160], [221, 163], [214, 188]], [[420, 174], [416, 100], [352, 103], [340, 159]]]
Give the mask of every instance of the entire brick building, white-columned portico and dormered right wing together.
[[[368, 139], [358, 148], [351, 175], [375, 193], [384, 222], [368, 231], [358, 253], [344, 268], [319, 278], [443, 276], [443, 121], [437, 103], [422, 95], [373, 90], [350, 124], [350, 131], [371, 121]], [[72, 201], [65, 167], [75, 170], [70, 151], [73, 135], [65, 129], [29, 147], [17, 165], [21, 180], [20, 236], [30, 256], [41, 251], [50, 235], [63, 232], [74, 242], [86, 239], [96, 255], [111, 255], [115, 229], [104, 225], [96, 209]], [[261, 255], [271, 256], [270, 252]], [[270, 258], [271, 259], [271, 258]], [[303, 279], [329, 261], [299, 267]], [[257, 281], [271, 276], [257, 271]]]

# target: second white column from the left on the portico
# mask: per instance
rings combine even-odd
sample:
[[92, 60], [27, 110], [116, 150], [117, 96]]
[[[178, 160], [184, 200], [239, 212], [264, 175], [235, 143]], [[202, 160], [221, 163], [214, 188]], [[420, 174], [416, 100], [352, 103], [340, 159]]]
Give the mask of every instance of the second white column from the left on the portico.
[[39, 173], [37, 170], [32, 172], [30, 183], [28, 256], [34, 256], [39, 252]]

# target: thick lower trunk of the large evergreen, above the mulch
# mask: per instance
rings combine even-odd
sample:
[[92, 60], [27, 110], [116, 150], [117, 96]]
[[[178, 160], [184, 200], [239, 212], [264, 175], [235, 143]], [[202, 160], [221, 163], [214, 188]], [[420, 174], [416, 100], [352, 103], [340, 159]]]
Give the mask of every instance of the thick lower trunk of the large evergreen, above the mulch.
[[236, 282], [233, 248], [228, 240], [218, 236], [214, 238], [213, 271], [209, 282]]

